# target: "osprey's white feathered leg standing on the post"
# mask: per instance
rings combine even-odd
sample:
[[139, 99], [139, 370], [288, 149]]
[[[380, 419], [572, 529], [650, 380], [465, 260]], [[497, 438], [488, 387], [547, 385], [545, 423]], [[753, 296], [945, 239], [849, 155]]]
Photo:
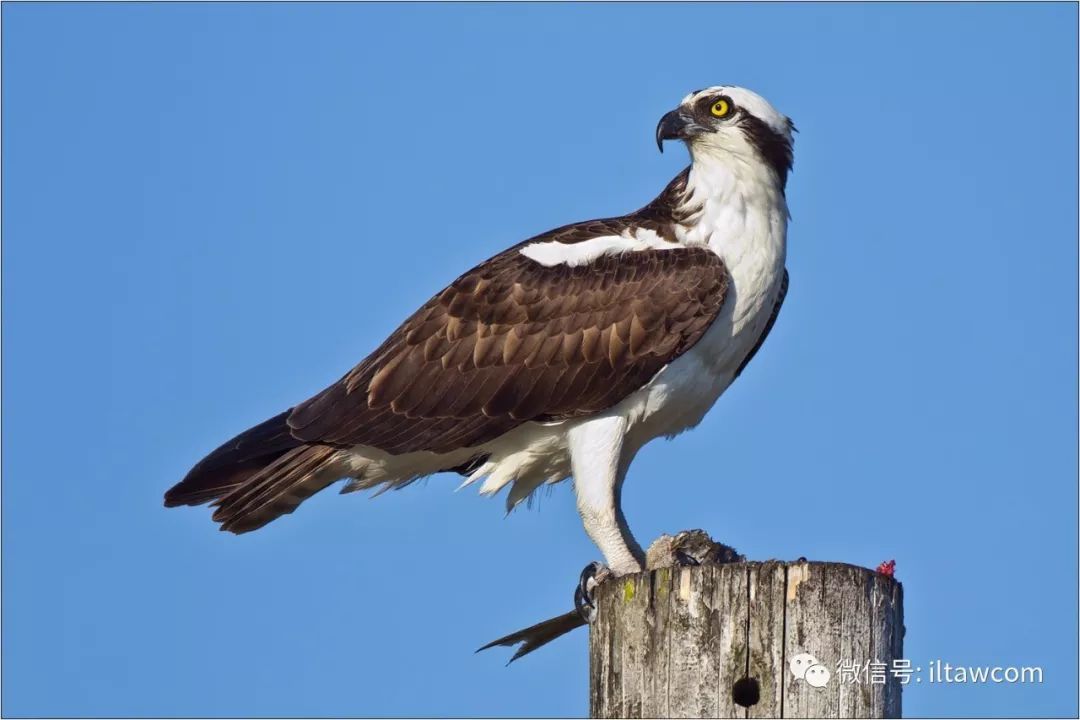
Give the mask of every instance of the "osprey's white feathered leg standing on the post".
[[625, 418], [615, 416], [588, 420], [568, 433], [578, 512], [585, 532], [616, 576], [645, 568], [645, 553], [630, 533], [620, 506], [622, 480], [630, 464], [630, 459], [622, 457], [625, 432]]

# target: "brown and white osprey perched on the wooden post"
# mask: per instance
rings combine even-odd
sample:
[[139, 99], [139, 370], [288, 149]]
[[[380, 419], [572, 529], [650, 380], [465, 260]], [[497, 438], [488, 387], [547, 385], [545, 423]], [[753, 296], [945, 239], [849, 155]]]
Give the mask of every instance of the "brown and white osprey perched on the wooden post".
[[340, 479], [401, 488], [440, 472], [510, 487], [508, 510], [573, 478], [615, 575], [645, 554], [626, 470], [697, 425], [769, 334], [784, 268], [794, 126], [759, 95], [714, 86], [663, 116], [691, 164], [645, 207], [530, 237], [435, 295], [314, 397], [214, 450], [165, 493], [213, 501], [247, 532]]

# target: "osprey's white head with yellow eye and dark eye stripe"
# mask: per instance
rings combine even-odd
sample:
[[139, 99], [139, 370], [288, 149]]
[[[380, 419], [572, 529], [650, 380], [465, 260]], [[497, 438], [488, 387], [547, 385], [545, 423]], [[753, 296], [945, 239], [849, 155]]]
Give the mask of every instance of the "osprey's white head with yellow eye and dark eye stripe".
[[697, 90], [657, 125], [657, 145], [684, 140], [697, 161], [734, 158], [764, 164], [775, 173], [780, 187], [792, 168], [795, 125], [764, 97], [744, 87], [714, 85]]

